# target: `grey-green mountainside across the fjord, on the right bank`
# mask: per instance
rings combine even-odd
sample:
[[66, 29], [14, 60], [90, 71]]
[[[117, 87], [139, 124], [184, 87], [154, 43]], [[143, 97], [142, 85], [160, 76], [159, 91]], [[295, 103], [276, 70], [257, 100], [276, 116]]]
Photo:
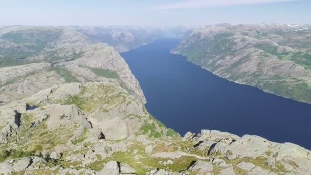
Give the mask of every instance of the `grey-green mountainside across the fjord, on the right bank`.
[[206, 26], [172, 52], [231, 81], [311, 103], [311, 26]]

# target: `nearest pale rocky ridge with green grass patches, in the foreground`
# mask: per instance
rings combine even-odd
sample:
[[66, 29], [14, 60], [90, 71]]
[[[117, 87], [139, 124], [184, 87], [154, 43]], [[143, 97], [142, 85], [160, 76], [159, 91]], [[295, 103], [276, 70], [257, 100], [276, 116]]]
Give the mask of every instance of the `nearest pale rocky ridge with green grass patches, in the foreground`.
[[108, 81], [53, 86], [0, 112], [8, 174], [311, 174], [311, 151], [295, 144], [210, 130], [182, 138]]

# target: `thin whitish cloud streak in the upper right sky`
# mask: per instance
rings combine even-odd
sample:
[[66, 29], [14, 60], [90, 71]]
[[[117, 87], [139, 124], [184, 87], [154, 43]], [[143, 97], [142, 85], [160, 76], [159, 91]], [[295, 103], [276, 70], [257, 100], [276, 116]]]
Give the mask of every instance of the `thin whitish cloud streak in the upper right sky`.
[[276, 3], [276, 2], [292, 2], [297, 0], [184, 0], [179, 3], [165, 4], [158, 6], [156, 10], [168, 9], [198, 9], [222, 6], [235, 6], [244, 4], [263, 4], [263, 3]]

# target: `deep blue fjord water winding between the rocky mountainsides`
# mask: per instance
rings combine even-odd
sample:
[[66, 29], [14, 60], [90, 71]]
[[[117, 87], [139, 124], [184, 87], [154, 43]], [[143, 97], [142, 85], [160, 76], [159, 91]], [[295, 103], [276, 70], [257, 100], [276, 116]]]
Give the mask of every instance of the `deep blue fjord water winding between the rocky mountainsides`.
[[259, 135], [311, 149], [311, 105], [236, 84], [170, 50], [165, 38], [122, 53], [147, 99], [146, 108], [182, 136], [201, 129]]

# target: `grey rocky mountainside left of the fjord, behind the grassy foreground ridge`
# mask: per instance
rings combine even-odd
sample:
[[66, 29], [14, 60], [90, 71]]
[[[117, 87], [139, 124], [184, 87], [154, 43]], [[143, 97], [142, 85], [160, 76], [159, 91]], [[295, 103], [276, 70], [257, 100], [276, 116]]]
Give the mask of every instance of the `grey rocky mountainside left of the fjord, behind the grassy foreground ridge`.
[[[51, 85], [103, 79], [117, 82], [142, 103], [146, 102], [124, 59], [106, 44], [93, 44], [83, 34], [64, 28], [14, 26], [1, 31], [0, 43], [7, 43], [6, 48], [0, 47], [3, 104]], [[50, 36], [51, 33], [54, 35]], [[21, 49], [16, 55], [16, 48], [30, 46], [31, 49]], [[15, 66], [5, 67], [8, 65]]]

